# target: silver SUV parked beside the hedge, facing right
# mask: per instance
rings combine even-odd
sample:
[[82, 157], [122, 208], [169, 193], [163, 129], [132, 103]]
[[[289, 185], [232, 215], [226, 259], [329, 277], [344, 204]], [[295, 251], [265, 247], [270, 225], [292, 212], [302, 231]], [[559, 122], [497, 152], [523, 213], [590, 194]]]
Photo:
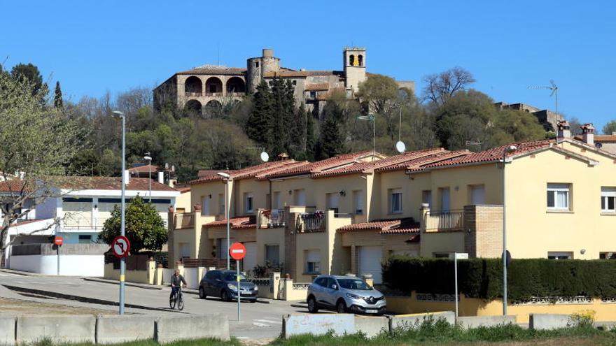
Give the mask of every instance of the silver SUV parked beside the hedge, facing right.
[[356, 312], [383, 315], [386, 309], [385, 296], [354, 276], [316, 277], [308, 287], [306, 301], [310, 313], [328, 309], [341, 314]]

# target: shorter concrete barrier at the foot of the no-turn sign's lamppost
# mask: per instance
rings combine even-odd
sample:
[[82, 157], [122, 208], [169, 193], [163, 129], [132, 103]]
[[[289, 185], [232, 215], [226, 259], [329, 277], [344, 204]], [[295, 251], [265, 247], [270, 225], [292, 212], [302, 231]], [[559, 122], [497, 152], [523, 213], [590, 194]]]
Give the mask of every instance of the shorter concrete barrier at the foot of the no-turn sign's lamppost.
[[128, 343], [154, 339], [155, 316], [124, 315], [97, 317], [97, 344]]

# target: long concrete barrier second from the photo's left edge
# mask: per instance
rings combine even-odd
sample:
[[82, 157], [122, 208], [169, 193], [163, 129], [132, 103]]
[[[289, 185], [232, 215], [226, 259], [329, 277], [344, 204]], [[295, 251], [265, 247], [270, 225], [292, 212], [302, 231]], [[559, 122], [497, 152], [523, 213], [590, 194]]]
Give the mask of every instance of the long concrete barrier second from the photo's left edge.
[[20, 316], [17, 318], [18, 344], [31, 344], [50, 339], [53, 343], [94, 343], [96, 317]]

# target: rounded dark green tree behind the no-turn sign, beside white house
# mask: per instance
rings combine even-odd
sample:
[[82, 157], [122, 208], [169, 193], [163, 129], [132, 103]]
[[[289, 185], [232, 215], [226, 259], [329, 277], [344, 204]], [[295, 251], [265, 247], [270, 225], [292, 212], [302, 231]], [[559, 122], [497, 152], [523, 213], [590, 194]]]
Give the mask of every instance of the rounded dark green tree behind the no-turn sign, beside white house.
[[[105, 221], [99, 239], [111, 245], [113, 238], [120, 235], [121, 210], [113, 207], [111, 217]], [[126, 206], [125, 235], [130, 241], [130, 253], [141, 250], [158, 251], [167, 243], [165, 222], [152, 203], [146, 203], [140, 196], [135, 197]]]

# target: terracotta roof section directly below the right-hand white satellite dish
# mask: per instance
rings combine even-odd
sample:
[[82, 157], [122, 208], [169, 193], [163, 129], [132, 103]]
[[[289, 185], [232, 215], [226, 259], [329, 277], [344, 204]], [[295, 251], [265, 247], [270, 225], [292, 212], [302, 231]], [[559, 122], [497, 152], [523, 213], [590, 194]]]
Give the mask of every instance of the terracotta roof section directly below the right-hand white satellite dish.
[[327, 178], [336, 175], [347, 175], [354, 173], [368, 173], [373, 171], [380, 171], [381, 169], [388, 168], [390, 166], [398, 167], [398, 169], [405, 169], [408, 165], [407, 162], [413, 159], [432, 157], [435, 154], [445, 152], [443, 148], [433, 148], [426, 150], [416, 150], [414, 152], [405, 152], [403, 154], [386, 157], [377, 161], [369, 162], [355, 162], [349, 166], [342, 168], [332, 169], [322, 173], [316, 173], [312, 175], [312, 178]]

